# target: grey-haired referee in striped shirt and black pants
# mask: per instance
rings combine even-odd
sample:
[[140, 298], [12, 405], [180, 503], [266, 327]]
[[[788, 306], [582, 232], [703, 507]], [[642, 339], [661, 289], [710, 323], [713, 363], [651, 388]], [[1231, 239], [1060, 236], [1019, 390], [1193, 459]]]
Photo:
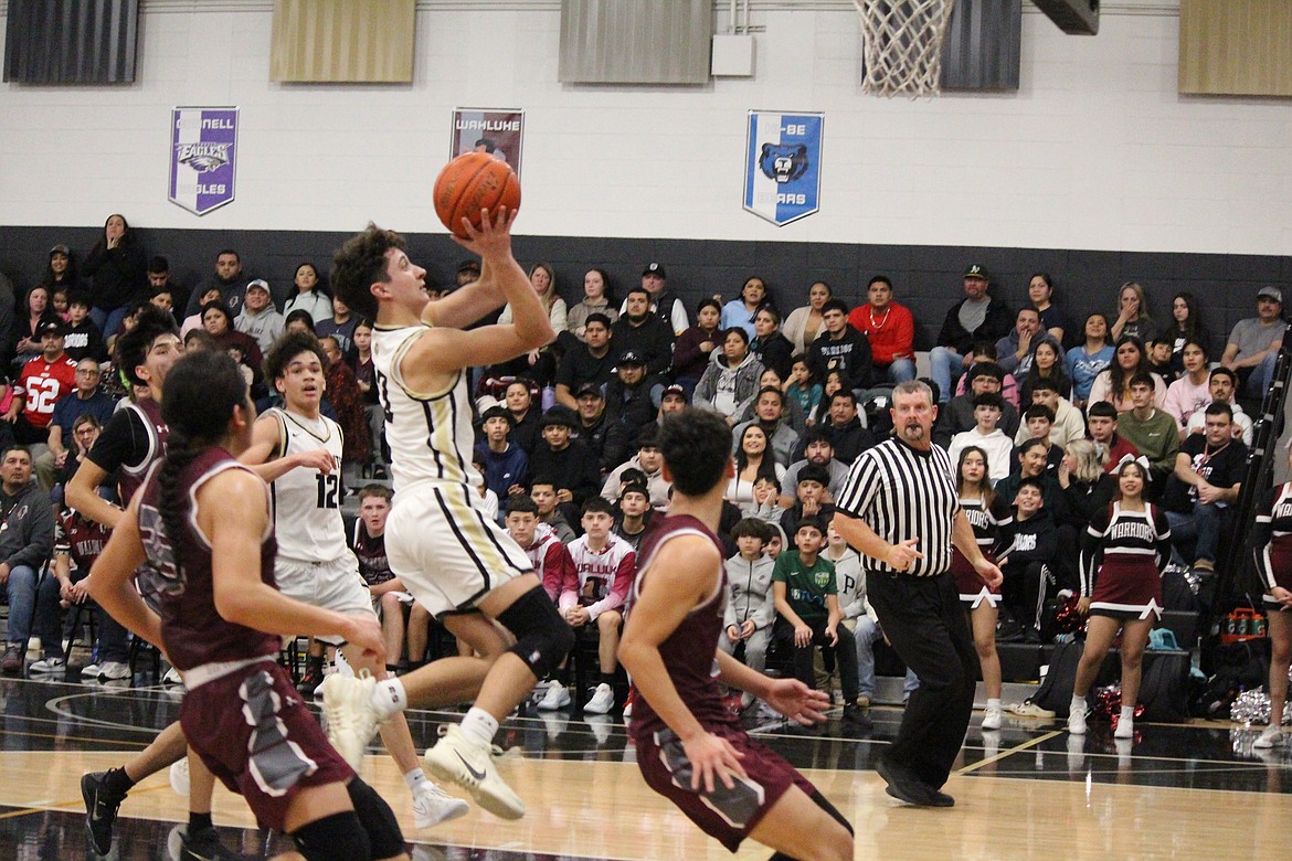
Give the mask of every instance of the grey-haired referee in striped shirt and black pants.
[[902, 727], [876, 764], [888, 794], [951, 807], [941, 791], [969, 727], [978, 656], [951, 577], [951, 545], [988, 586], [1000, 569], [960, 510], [951, 458], [933, 444], [933, 391], [912, 380], [893, 390], [894, 436], [858, 454], [839, 496], [835, 529], [860, 551], [866, 594], [889, 643], [920, 676]]

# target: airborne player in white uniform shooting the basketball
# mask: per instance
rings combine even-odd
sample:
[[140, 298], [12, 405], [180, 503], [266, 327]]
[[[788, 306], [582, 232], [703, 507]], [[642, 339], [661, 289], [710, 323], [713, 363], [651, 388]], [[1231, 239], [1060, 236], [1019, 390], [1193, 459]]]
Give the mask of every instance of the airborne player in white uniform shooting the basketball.
[[[516, 213], [500, 209], [465, 239], [482, 257], [481, 278], [432, 301], [426, 271], [408, 259], [403, 236], [376, 225], [335, 256], [332, 288], [355, 314], [376, 320], [375, 382], [386, 420], [395, 485], [386, 522], [390, 569], [456, 636], [487, 656], [450, 657], [398, 679], [349, 679], [323, 685], [328, 732], [350, 762], [381, 720], [410, 702], [435, 705], [475, 697], [463, 723], [426, 751], [429, 771], [468, 791], [504, 818], [525, 803], [499, 777], [490, 755], [497, 724], [537, 679], [557, 669], [574, 644], [570, 626], [543, 591], [525, 551], [475, 507], [474, 432], [466, 367], [499, 364], [554, 337], [548, 314], [512, 256]], [[513, 323], [464, 329], [509, 302]], [[514, 636], [504, 651], [496, 620]], [[483, 680], [482, 680], [483, 679]], [[477, 696], [478, 694], [478, 696]]]

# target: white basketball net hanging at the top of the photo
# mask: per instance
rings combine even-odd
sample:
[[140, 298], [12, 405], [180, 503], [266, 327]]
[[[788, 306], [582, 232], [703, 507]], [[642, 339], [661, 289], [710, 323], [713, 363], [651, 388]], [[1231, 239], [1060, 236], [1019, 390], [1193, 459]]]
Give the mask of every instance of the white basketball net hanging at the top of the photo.
[[853, 0], [862, 18], [863, 93], [937, 96], [955, 0]]

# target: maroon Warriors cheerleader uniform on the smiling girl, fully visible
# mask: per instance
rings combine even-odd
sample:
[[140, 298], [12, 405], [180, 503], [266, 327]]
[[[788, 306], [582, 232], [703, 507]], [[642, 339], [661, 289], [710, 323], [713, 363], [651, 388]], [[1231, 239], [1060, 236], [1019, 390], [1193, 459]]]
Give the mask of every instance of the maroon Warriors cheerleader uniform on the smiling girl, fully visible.
[[1168, 559], [1171, 527], [1156, 505], [1125, 511], [1114, 502], [1097, 511], [1081, 546], [1081, 595], [1090, 598], [1090, 614], [1160, 620]]

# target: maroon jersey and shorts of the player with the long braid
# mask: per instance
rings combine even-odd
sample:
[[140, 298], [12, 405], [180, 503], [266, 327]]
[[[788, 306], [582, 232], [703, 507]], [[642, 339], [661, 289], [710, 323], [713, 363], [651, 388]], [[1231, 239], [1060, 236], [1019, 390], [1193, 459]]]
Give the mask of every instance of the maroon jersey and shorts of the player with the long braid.
[[[240, 469], [245, 467], [227, 452], [209, 448], [180, 472], [178, 496], [195, 500], [205, 481]], [[240, 793], [262, 824], [283, 830], [287, 807], [300, 789], [345, 782], [354, 772], [328, 745], [278, 666], [278, 635], [225, 621], [216, 611], [211, 542], [198, 528], [196, 511], [185, 515], [178, 541], [165, 534], [158, 472], [151, 470], [143, 483], [138, 525], [160, 590], [162, 643], [189, 689], [180, 724], [211, 772]], [[267, 488], [261, 505], [267, 515]], [[275, 550], [267, 525], [260, 577], [270, 586]]]

